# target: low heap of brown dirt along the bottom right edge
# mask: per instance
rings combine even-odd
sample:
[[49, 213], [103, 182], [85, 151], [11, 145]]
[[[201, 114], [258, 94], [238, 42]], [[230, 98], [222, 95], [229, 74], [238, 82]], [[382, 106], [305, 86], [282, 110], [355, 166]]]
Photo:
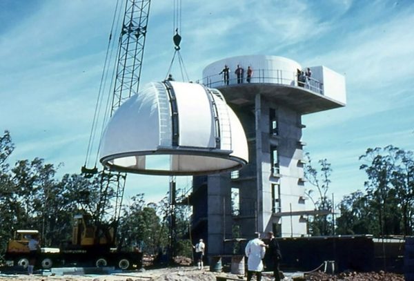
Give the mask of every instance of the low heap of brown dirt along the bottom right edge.
[[357, 273], [355, 271], [348, 271], [339, 273], [338, 275], [331, 275], [323, 273], [322, 271], [306, 274], [304, 280], [306, 281], [404, 281], [404, 276], [395, 273], [380, 272], [366, 272]]

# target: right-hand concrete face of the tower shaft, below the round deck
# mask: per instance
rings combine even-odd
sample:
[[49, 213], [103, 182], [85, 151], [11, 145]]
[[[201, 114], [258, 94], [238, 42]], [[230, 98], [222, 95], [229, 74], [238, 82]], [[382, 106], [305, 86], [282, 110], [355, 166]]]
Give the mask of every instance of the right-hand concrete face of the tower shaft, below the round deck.
[[[278, 134], [270, 133], [270, 108], [275, 109], [277, 118]], [[300, 198], [304, 198], [304, 186], [302, 185], [304, 171], [300, 160], [303, 158], [302, 146], [299, 140], [302, 139], [301, 117], [295, 111], [290, 110], [272, 101], [262, 100], [262, 155], [257, 161], [262, 163], [262, 208], [263, 222], [260, 231], [271, 231], [274, 223], [282, 223], [282, 237], [306, 235], [306, 223], [299, 222], [299, 216], [290, 220], [286, 217], [272, 218], [272, 184], [280, 186], [281, 212], [305, 211], [305, 204]], [[279, 157], [280, 177], [274, 177], [270, 173], [271, 151], [270, 146], [277, 147]]]

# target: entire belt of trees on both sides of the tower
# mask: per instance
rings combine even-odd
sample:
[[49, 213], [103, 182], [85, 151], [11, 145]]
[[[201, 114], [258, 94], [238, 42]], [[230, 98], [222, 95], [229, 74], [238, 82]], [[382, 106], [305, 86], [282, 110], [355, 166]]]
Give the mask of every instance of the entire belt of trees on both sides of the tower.
[[[38, 157], [18, 160], [11, 166], [8, 159], [13, 150], [6, 130], [0, 135], [0, 255], [17, 229], [37, 229], [43, 246], [68, 242], [74, 215], [96, 211], [99, 179], [80, 174], [57, 179], [60, 165], [47, 164]], [[330, 192], [331, 164], [327, 159], [315, 164], [309, 153], [306, 158], [304, 173], [312, 186], [306, 195], [320, 213], [308, 218], [310, 235], [413, 235], [413, 151], [392, 145], [368, 148], [359, 157], [359, 168], [367, 176], [364, 189], [346, 195], [335, 206]], [[333, 212], [338, 209], [340, 215]], [[174, 233], [170, 231], [172, 215]], [[121, 211], [119, 247], [135, 245], [155, 254], [173, 246], [170, 251], [176, 255], [191, 256], [190, 215], [188, 206], [170, 206], [167, 196], [148, 204], [143, 193], [137, 194]]]

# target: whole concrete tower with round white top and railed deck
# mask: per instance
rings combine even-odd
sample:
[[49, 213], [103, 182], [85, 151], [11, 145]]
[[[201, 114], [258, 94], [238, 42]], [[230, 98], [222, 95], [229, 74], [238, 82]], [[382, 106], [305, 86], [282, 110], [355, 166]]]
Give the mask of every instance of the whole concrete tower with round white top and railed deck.
[[[225, 66], [227, 77], [219, 74]], [[219, 89], [242, 122], [250, 162], [238, 172], [194, 177], [193, 238], [204, 238], [208, 255], [219, 255], [231, 253], [226, 241], [255, 231], [306, 235], [305, 217], [314, 211], [305, 207], [302, 115], [345, 106], [344, 77], [324, 66], [250, 55], [215, 61], [204, 69], [203, 83]]]

